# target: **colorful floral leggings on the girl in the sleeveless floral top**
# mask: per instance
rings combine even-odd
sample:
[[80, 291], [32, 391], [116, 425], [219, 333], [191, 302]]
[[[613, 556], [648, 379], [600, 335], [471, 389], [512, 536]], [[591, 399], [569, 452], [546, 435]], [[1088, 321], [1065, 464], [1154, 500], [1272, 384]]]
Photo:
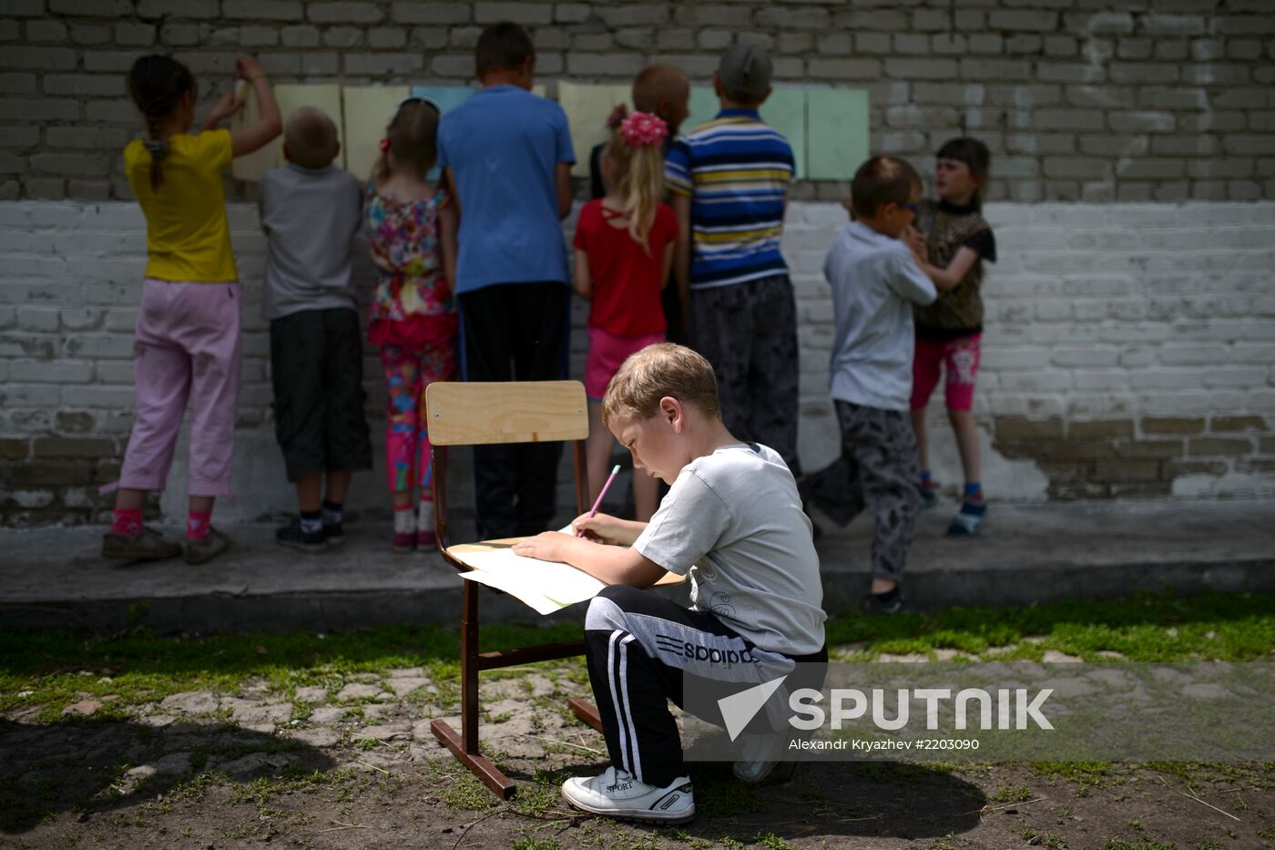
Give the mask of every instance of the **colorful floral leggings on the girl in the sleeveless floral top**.
[[385, 429], [385, 471], [390, 493], [412, 490], [419, 484], [421, 498], [433, 498], [430, 472], [430, 428], [425, 414], [425, 388], [449, 380], [456, 370], [453, 346], [408, 350], [381, 347], [381, 368], [389, 392], [389, 421]]

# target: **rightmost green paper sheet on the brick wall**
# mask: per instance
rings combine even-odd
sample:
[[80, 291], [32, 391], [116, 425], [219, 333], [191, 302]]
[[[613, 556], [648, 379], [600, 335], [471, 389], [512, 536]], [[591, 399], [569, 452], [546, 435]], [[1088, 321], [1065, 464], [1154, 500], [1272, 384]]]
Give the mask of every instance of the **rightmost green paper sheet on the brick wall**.
[[806, 174], [845, 180], [868, 158], [868, 93], [848, 88], [806, 89]]

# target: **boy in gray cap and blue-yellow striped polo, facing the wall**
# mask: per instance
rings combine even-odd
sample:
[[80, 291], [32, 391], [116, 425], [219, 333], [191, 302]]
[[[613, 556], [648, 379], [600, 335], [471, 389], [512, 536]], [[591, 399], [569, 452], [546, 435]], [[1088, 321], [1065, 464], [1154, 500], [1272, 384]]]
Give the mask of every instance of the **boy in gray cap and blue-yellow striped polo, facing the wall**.
[[797, 461], [797, 308], [779, 253], [794, 160], [757, 107], [770, 56], [736, 45], [713, 77], [722, 110], [678, 137], [664, 163], [681, 228], [673, 263], [691, 343], [717, 373], [722, 419], [743, 440]]

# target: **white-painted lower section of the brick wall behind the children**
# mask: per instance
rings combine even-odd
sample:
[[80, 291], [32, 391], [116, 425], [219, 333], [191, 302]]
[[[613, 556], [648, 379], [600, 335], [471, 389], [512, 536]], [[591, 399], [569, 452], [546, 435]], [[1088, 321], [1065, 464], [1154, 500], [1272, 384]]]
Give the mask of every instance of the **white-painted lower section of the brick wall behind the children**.
[[[986, 286], [975, 415], [989, 493], [1275, 494], [1275, 203], [1002, 203], [988, 217], [1001, 262]], [[820, 269], [844, 218], [835, 204], [794, 203], [784, 237], [798, 297], [801, 453], [810, 468], [836, 451], [826, 394], [831, 305]], [[288, 509], [292, 496], [269, 412], [255, 207], [232, 204], [231, 223], [246, 292], [244, 384], [238, 499], [218, 516], [252, 519]], [[144, 234], [135, 204], [0, 203], [5, 523], [85, 521], [107, 505], [96, 488], [115, 476], [131, 424]], [[370, 271], [361, 277], [370, 281]], [[583, 302], [576, 308], [578, 377], [585, 339]], [[368, 414], [382, 461], [384, 391], [368, 354]], [[936, 475], [958, 485], [937, 397], [932, 412]], [[184, 457], [180, 447], [163, 503], [173, 513], [185, 498]], [[357, 476], [352, 504], [384, 508], [382, 481], [380, 468]]]

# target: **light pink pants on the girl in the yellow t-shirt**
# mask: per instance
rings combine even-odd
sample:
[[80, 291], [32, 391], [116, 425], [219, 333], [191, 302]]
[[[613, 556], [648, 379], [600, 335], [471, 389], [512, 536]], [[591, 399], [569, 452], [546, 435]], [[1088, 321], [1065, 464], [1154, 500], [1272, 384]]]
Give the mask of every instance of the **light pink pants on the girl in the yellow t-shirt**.
[[193, 496], [231, 495], [240, 377], [240, 285], [147, 278], [138, 315], [138, 412], [115, 486], [163, 490], [191, 402]]

